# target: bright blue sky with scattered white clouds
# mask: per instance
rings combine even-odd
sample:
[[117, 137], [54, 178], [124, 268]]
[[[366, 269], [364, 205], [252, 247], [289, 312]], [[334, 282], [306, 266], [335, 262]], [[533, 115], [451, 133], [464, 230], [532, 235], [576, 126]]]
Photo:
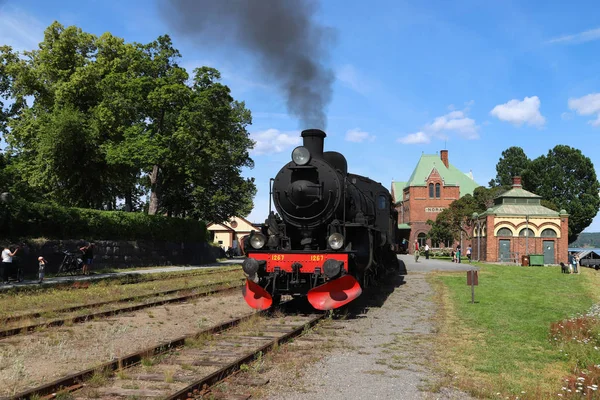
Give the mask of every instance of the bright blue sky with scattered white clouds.
[[[224, 0], [225, 1], [225, 0]], [[151, 1], [0, 0], [0, 43], [32, 49], [52, 21], [127, 41], [172, 36], [182, 65], [210, 65], [253, 113], [249, 127], [258, 195], [249, 219], [264, 220], [268, 179], [300, 143], [298, 121], [252, 54], [231, 44], [190, 41], [171, 31]], [[349, 170], [390, 187], [407, 180], [422, 153], [487, 185], [503, 150], [530, 158], [557, 144], [582, 150], [600, 168], [598, 5], [579, 1], [349, 1], [320, 3], [334, 29], [333, 97], [326, 149]], [[276, 32], [274, 32], [276, 34]], [[597, 173], [599, 170], [597, 170]], [[588, 232], [600, 231], [597, 217]]]

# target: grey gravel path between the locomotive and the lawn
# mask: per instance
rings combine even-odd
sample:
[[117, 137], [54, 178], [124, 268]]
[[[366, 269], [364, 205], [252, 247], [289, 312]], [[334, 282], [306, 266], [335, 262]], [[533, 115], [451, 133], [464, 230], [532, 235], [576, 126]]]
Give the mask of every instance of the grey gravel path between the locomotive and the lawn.
[[[400, 256], [409, 274], [404, 284], [357, 318], [337, 321], [345, 345], [303, 371], [294, 385], [273, 385], [269, 399], [470, 399], [440, 388], [431, 368], [433, 290], [425, 276], [432, 270], [471, 269], [468, 264]], [[302, 393], [298, 392], [302, 388]]]

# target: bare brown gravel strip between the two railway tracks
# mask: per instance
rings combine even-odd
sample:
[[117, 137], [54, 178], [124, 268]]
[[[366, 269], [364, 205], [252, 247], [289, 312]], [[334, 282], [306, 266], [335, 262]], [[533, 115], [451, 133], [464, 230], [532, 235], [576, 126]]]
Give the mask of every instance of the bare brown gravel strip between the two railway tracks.
[[0, 397], [253, 311], [218, 294], [0, 340]]

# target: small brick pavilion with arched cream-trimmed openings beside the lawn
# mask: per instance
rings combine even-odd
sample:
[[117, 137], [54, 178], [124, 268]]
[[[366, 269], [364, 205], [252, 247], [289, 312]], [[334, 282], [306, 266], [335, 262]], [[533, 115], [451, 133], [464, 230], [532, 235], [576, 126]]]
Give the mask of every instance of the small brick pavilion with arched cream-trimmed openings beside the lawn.
[[513, 178], [512, 189], [473, 217], [476, 260], [520, 262], [523, 255], [539, 254], [544, 264], [567, 262], [569, 215], [542, 206], [541, 197], [524, 190], [518, 176]]

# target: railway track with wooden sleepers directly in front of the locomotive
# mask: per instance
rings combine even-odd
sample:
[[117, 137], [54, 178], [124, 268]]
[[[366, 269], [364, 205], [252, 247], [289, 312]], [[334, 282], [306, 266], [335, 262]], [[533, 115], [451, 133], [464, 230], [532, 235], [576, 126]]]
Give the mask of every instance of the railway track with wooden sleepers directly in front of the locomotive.
[[[252, 313], [14, 395], [11, 399], [188, 399], [323, 319]], [[72, 393], [76, 392], [76, 393]]]

